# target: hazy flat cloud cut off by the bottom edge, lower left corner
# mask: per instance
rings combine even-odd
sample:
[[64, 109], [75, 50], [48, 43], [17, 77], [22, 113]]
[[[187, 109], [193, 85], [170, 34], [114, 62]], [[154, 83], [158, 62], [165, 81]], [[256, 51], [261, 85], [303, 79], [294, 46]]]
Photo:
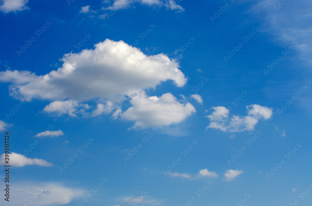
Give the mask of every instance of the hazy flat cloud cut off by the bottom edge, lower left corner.
[[[12, 183], [10, 191], [18, 197], [10, 198], [10, 204], [25, 205], [28, 203], [32, 206], [64, 205], [76, 198], [81, 198], [86, 193], [84, 190], [67, 187], [58, 182]], [[27, 199], [32, 200], [32, 203], [27, 202]]]

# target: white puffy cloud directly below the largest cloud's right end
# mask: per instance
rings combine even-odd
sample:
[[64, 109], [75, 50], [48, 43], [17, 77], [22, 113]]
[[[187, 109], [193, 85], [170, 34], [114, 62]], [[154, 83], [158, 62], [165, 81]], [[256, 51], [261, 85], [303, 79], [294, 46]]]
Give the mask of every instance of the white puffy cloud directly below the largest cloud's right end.
[[178, 124], [196, 112], [191, 103], [181, 104], [171, 93], [149, 97], [141, 92], [132, 97], [130, 103], [132, 106], [120, 117], [135, 121], [131, 129]]

